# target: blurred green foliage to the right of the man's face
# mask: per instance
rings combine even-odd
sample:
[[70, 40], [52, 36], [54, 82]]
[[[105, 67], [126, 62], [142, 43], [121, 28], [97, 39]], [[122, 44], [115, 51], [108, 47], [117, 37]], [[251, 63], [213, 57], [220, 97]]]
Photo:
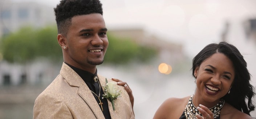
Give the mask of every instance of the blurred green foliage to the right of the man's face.
[[129, 38], [120, 39], [111, 34], [108, 34], [107, 37], [109, 47], [104, 58], [106, 63], [125, 64], [133, 60], [147, 62], [157, 54], [155, 49], [140, 46]]

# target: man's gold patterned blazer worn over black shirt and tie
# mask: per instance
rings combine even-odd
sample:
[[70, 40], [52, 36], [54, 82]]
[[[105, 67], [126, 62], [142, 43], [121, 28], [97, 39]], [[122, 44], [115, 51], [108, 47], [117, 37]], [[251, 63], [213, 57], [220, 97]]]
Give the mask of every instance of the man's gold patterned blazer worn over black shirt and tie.
[[[101, 85], [105, 77], [98, 75]], [[112, 81], [112, 80], [108, 80]], [[124, 87], [122, 97], [115, 99], [115, 111], [109, 100], [112, 119], [134, 119], [131, 102]], [[33, 119], [104, 119], [104, 115], [82, 78], [65, 63], [60, 74], [36, 98]]]

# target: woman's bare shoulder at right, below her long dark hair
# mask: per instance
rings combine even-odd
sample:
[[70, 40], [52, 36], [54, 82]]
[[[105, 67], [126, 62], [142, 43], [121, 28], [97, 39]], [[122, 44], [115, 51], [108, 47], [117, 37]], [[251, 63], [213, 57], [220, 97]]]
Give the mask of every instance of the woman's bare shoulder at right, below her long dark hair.
[[225, 103], [222, 110], [223, 111], [220, 115], [224, 119], [252, 119], [251, 116], [241, 112], [240, 110], [237, 110], [229, 103]]

